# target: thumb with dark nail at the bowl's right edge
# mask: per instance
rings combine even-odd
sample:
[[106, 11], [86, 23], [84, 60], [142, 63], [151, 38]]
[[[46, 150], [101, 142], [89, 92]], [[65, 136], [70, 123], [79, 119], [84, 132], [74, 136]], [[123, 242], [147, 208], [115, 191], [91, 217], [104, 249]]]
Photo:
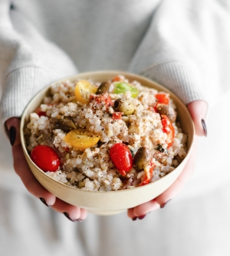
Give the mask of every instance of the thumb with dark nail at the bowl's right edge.
[[207, 136], [207, 127], [205, 117], [208, 111], [208, 105], [205, 101], [192, 101], [187, 105], [187, 108], [192, 116], [195, 126], [195, 135]]

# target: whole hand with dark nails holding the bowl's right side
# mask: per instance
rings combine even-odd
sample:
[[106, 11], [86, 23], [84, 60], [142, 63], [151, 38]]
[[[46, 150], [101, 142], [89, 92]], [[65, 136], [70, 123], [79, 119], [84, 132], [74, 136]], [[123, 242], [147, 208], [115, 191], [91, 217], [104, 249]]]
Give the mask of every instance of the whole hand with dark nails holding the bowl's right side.
[[192, 101], [187, 105], [187, 108], [190, 112], [190, 115], [192, 116], [196, 135], [194, 139], [194, 147], [192, 148], [189, 161], [186, 163], [185, 168], [182, 170], [176, 181], [166, 191], [164, 191], [163, 194], [160, 194], [158, 197], [151, 201], [128, 209], [127, 214], [130, 218], [133, 219], [133, 221], [135, 221], [137, 218], [143, 219], [150, 211], [154, 211], [166, 206], [166, 204], [172, 198], [174, 198], [176, 194], [179, 194], [179, 192], [182, 191], [182, 188], [184, 188], [186, 182], [189, 180], [195, 169], [196, 145], [198, 140], [197, 136], [207, 135], [207, 129], [205, 127], [204, 120], [208, 106], [205, 101]]

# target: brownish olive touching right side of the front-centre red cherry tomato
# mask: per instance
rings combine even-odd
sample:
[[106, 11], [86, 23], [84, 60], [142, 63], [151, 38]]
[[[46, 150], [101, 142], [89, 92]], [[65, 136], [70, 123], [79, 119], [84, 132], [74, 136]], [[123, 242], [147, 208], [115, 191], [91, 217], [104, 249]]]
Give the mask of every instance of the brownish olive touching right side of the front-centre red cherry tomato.
[[149, 165], [150, 160], [151, 152], [149, 149], [146, 147], [140, 147], [136, 151], [136, 155], [133, 158], [133, 167], [136, 169], [136, 171], [142, 171], [147, 165]]

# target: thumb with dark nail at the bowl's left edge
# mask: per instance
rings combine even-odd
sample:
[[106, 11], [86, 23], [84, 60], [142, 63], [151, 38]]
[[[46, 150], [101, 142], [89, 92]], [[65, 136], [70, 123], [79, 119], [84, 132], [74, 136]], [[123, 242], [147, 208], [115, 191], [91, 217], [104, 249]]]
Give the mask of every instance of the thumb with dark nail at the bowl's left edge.
[[20, 145], [20, 119], [9, 118], [5, 121], [5, 129], [8, 134], [11, 146]]

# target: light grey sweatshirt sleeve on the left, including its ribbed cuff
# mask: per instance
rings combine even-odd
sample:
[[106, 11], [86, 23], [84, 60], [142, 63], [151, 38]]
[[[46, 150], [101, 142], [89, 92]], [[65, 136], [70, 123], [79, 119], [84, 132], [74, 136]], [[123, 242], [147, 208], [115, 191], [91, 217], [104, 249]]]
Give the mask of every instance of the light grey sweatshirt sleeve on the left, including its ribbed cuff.
[[20, 117], [28, 101], [52, 81], [74, 75], [71, 59], [44, 39], [26, 19], [0, 2], [0, 83], [2, 124], [12, 116]]

